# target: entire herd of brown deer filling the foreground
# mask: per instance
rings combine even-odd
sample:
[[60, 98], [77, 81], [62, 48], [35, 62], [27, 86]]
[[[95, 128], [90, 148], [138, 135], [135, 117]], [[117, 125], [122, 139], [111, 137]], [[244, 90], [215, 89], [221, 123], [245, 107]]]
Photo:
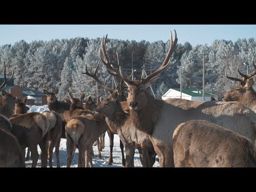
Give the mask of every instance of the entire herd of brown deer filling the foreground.
[[[0, 86], [0, 167], [25, 167], [26, 147], [31, 150], [32, 167], [35, 167], [39, 156], [37, 145], [42, 151], [42, 167], [47, 166], [47, 159], [52, 167], [54, 147], [57, 167], [60, 167], [61, 138], [67, 140], [67, 167], [71, 165], [76, 148], [79, 151], [78, 167], [93, 167], [93, 143], [97, 141], [100, 156], [106, 131], [110, 138], [108, 164], [113, 163], [113, 139], [114, 134], [118, 134], [122, 163], [126, 167], [134, 166], [135, 149], [139, 151], [143, 167], [152, 167], [156, 155], [161, 167], [256, 166], [256, 93], [251, 78], [256, 74], [256, 66], [253, 59], [253, 73], [244, 75], [237, 68], [243, 78], [226, 75], [241, 84], [223, 95], [224, 102], [164, 101], [150, 95], [147, 88], [169, 66], [178, 41], [176, 31], [174, 41], [171, 35], [169, 51], [162, 65], [136, 81], [124, 75], [118, 54], [117, 64], [109, 60], [106, 40], [107, 36], [101, 41], [100, 60], [94, 73], [90, 74], [87, 66], [83, 73], [110, 93], [108, 98], [101, 97], [100, 103], [94, 103], [89, 97], [84, 104], [83, 92], [78, 98], [68, 93], [70, 102], [59, 102], [58, 89], [53, 92], [44, 90], [50, 111], [27, 113], [27, 98], [22, 101], [4, 91], [7, 83], [4, 63], [4, 82]], [[100, 61], [110, 75], [121, 79], [115, 90], [106, 87], [97, 77]]]

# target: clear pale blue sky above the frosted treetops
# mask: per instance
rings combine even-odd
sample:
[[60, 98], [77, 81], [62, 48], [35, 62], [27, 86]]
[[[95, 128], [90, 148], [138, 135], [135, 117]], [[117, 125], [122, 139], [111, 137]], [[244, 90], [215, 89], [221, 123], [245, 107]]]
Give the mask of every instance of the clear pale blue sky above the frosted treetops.
[[256, 25], [0, 25], [0, 45], [14, 44], [21, 39], [50, 41], [55, 38], [103, 37], [135, 41], [166, 42], [170, 31], [177, 31], [178, 43], [211, 45], [214, 39], [236, 41], [256, 38]]

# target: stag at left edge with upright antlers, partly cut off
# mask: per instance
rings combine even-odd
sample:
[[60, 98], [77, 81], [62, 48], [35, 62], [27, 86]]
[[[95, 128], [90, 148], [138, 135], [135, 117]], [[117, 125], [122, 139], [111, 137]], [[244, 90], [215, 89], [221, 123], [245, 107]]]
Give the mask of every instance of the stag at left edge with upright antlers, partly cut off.
[[0, 86], [0, 91], [2, 91], [2, 94], [0, 95], [0, 114], [4, 115], [7, 118], [13, 115], [13, 110], [15, 106], [15, 97], [13, 97], [12, 94], [4, 91], [4, 89], [7, 85], [7, 81], [9, 81], [13, 77], [13, 72], [14, 71], [12, 71], [12, 76], [7, 80], [6, 68], [5, 68], [5, 62], [4, 62], [4, 82]]

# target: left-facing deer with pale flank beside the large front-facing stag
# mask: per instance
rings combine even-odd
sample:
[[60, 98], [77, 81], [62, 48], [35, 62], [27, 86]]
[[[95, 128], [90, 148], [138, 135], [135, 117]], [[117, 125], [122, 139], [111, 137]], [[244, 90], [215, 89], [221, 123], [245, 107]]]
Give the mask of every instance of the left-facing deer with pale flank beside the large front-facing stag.
[[148, 134], [135, 129], [132, 125], [130, 115], [122, 109], [118, 101], [118, 90], [114, 91], [107, 99], [101, 99], [100, 105], [95, 112], [106, 116], [106, 122], [109, 129], [116, 132], [122, 142], [125, 144], [126, 167], [134, 167], [134, 152], [137, 148], [140, 152], [140, 160], [143, 167], [152, 167], [155, 158], [150, 158], [154, 153], [154, 148], [149, 140]]

